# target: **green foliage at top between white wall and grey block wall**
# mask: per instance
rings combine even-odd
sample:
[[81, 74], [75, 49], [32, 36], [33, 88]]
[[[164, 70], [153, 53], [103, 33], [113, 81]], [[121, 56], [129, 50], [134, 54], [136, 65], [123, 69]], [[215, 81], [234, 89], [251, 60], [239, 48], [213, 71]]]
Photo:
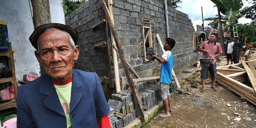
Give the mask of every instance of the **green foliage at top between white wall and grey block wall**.
[[63, 9], [65, 17], [68, 16], [75, 9], [79, 8], [86, 1], [88, 0], [63, 0]]

